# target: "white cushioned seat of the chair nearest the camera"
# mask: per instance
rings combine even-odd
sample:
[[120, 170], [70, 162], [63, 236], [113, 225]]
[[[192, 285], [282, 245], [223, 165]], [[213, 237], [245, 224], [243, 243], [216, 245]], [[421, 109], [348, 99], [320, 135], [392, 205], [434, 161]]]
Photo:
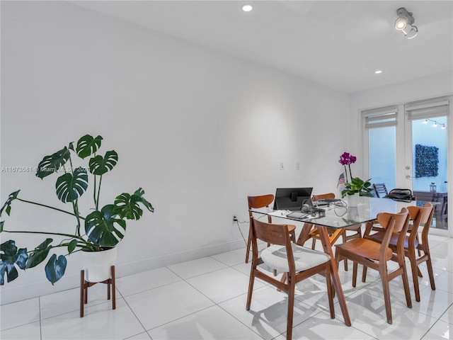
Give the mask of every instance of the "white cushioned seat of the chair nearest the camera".
[[[309, 249], [294, 243], [292, 243], [291, 246], [296, 272], [319, 266], [331, 259], [331, 256], [321, 251]], [[261, 259], [263, 259], [265, 264], [271, 268], [277, 269], [277, 271], [282, 271], [284, 273], [289, 271], [285, 246], [273, 245], [265, 248], [261, 252]]]

